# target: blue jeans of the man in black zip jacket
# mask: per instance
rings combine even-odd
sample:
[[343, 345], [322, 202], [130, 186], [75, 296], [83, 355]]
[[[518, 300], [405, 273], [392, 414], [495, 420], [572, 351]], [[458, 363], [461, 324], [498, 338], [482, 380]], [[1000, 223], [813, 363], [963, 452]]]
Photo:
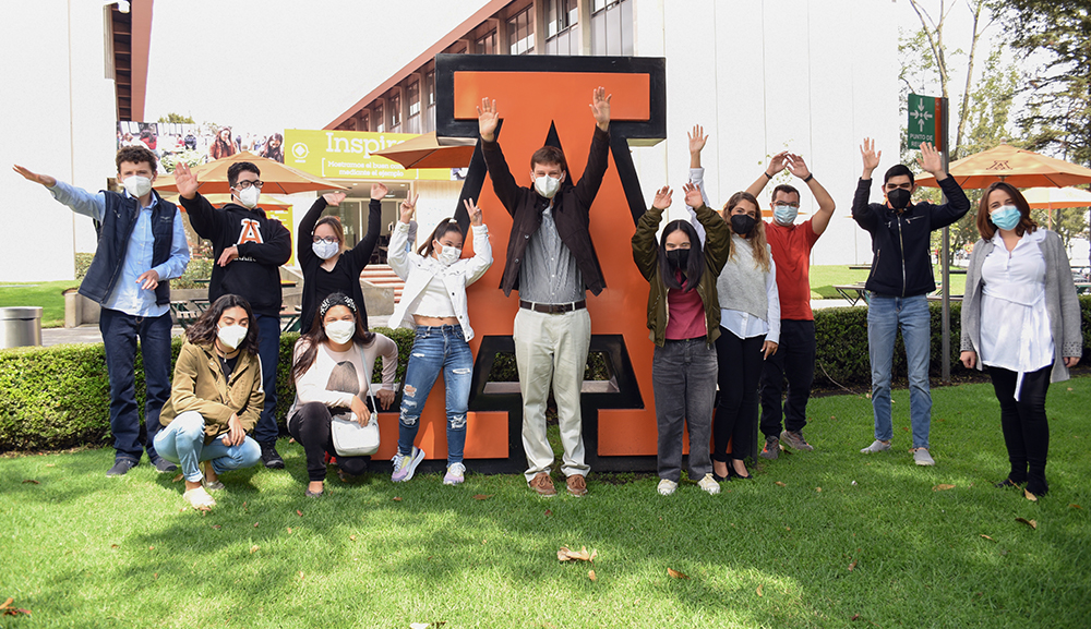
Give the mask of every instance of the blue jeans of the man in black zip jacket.
[[894, 341], [901, 326], [909, 363], [909, 418], [913, 426], [913, 447], [928, 447], [932, 425], [932, 394], [928, 391], [928, 351], [932, 341], [927, 297], [909, 298], [871, 294], [867, 304], [867, 352], [872, 361], [872, 408], [875, 411], [875, 438], [894, 437], [890, 421], [890, 366]]

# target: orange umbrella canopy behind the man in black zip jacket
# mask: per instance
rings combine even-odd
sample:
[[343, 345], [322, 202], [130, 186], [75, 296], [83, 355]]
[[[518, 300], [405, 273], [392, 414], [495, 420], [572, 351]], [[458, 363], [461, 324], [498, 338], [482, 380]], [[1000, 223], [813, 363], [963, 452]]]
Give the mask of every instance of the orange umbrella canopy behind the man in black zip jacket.
[[[1016, 188], [1065, 188], [1091, 183], [1091, 169], [1002, 144], [952, 162], [947, 169], [963, 189], [988, 188], [1004, 181]], [[916, 183], [939, 188], [931, 174], [916, 178]]]

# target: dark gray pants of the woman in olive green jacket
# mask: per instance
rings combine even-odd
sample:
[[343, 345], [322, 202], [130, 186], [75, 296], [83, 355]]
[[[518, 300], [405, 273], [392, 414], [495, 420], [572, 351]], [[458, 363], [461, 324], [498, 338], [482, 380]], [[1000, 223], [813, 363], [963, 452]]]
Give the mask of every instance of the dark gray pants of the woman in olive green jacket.
[[716, 399], [716, 348], [705, 338], [667, 340], [651, 360], [659, 428], [659, 477], [682, 477], [682, 422], [690, 431], [690, 477], [699, 481], [712, 471], [709, 439]]

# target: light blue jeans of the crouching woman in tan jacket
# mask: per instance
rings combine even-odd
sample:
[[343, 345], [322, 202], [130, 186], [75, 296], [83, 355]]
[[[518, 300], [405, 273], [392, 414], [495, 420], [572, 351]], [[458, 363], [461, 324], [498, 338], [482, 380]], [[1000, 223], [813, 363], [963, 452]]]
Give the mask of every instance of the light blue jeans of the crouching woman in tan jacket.
[[196, 411], [181, 413], [155, 436], [155, 449], [159, 456], [182, 468], [182, 475], [191, 483], [202, 479], [201, 461], [212, 461], [217, 474], [228, 470], [249, 468], [262, 459], [262, 448], [257, 441], [247, 437], [237, 446], [224, 445], [219, 435], [205, 445], [204, 418]]

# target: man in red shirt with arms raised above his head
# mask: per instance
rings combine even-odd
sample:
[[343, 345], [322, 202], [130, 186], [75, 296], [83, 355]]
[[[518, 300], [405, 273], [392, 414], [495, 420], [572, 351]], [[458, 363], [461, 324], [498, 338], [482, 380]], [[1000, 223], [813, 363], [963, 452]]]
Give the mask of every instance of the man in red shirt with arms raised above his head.
[[[769, 160], [765, 172], [746, 189], [757, 196], [780, 171], [803, 180], [818, 202], [818, 211], [808, 220], [795, 225], [800, 210], [800, 192], [788, 184], [772, 190], [772, 221], [765, 223], [766, 239], [772, 249], [777, 266], [777, 290], [780, 293], [780, 347], [765, 361], [762, 374], [762, 433], [765, 447], [760, 456], [776, 459], [781, 441], [795, 450], [813, 450], [803, 438], [807, 424], [807, 400], [815, 375], [815, 317], [811, 312], [811, 249], [826, 231], [834, 216], [834, 198], [812, 174], [799, 155], [787, 150]], [[788, 399], [781, 396], [788, 379]], [[781, 415], [784, 431], [781, 432]]]

